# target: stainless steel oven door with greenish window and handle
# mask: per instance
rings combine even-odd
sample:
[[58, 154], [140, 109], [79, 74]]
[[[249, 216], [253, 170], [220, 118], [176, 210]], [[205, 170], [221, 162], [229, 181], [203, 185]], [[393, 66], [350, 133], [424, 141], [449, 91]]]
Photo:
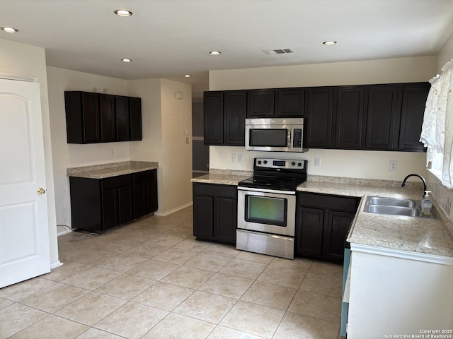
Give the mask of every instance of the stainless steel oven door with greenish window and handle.
[[296, 192], [238, 187], [238, 229], [294, 237]]

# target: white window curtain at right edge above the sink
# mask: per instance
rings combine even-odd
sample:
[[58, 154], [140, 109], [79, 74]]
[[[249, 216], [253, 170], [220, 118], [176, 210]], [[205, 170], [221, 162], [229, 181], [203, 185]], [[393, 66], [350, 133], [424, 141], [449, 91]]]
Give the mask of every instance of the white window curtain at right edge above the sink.
[[453, 59], [430, 83], [420, 141], [427, 148], [427, 167], [435, 153], [443, 154], [442, 184], [453, 188]]

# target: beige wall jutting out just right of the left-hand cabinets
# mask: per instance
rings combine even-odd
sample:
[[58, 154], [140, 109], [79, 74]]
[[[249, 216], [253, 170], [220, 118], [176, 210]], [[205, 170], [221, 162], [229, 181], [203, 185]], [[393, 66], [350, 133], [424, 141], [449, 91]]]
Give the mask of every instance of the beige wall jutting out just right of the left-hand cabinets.
[[[149, 79], [129, 81], [128, 90], [130, 95], [142, 97], [144, 126], [142, 143], [131, 144], [131, 160], [151, 157], [159, 161], [156, 214], [168, 215], [192, 203], [192, 88], [176, 81]], [[183, 98], [176, 99], [176, 92]]]

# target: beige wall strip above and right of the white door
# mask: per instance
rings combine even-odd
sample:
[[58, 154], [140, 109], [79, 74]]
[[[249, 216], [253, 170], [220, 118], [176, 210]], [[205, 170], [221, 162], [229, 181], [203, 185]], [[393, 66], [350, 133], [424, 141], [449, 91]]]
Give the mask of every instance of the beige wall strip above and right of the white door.
[[36, 76], [40, 82], [42, 133], [44, 136], [45, 179], [47, 191], [47, 220], [49, 222], [50, 239], [50, 265], [55, 266], [58, 265], [59, 261], [45, 49], [30, 46], [28, 44], [19, 44], [8, 40], [0, 40], [0, 60], [0, 72]]

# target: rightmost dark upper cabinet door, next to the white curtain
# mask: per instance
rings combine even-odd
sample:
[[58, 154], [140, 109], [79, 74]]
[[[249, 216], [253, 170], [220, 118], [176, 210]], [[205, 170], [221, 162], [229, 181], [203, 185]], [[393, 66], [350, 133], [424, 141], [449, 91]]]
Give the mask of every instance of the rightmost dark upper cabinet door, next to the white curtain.
[[401, 127], [399, 131], [399, 150], [424, 151], [420, 143], [423, 116], [430, 83], [408, 83], [403, 85], [403, 107], [401, 109]]

